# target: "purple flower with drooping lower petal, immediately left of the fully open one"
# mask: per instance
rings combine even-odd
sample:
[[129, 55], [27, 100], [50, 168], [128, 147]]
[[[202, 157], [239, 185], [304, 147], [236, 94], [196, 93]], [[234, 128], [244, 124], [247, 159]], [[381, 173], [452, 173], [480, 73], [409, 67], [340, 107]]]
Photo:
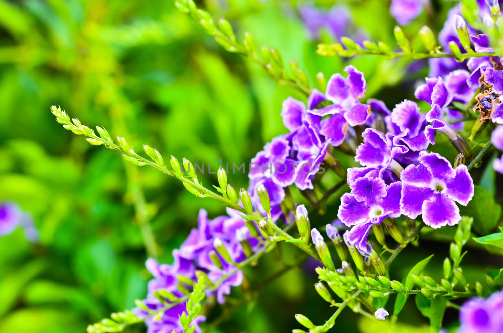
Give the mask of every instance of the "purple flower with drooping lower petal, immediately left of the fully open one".
[[344, 235], [362, 254], [369, 254], [371, 246], [367, 236], [373, 224], [400, 213], [400, 182], [386, 185], [380, 178], [363, 177], [350, 183], [351, 193], [341, 198], [338, 217], [347, 226], [353, 226]]

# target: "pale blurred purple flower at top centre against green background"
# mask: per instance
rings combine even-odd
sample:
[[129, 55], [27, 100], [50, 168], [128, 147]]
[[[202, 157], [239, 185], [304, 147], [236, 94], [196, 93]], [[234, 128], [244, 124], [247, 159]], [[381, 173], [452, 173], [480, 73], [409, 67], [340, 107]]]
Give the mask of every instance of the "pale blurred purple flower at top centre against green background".
[[321, 29], [327, 29], [332, 37], [339, 41], [341, 37], [350, 37], [357, 43], [366, 39], [366, 34], [357, 29], [351, 12], [344, 5], [337, 5], [330, 10], [316, 8], [313, 4], [302, 4], [299, 13], [312, 39], [318, 39]]

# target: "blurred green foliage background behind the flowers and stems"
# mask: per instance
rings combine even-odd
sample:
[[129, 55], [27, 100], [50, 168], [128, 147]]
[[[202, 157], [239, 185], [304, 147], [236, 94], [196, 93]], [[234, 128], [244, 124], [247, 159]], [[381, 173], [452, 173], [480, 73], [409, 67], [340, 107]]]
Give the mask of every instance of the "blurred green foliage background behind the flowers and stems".
[[[329, 77], [354, 64], [365, 73], [366, 97], [380, 98], [390, 109], [413, 99], [418, 80], [428, 75], [427, 62], [318, 56], [317, 42], [341, 36], [329, 27], [309, 31], [296, 1], [197, 3], [216, 19], [228, 19], [238, 39], [248, 31], [258, 45], [277, 48], [285, 61], [296, 59], [311, 82], [318, 71]], [[349, 37], [394, 44], [396, 22], [388, 2], [336, 5], [349, 13]], [[413, 36], [426, 23], [438, 33], [453, 5], [432, 2], [405, 34]], [[332, 6], [316, 3], [325, 11]], [[288, 96], [305, 101], [260, 66], [223, 50], [170, 0], [0, 0], [0, 201], [18, 203], [38, 230], [35, 241], [28, 241], [22, 228], [0, 237], [0, 332], [84, 331], [113, 311], [133, 307], [151, 278], [145, 260], [172, 263], [172, 250], [197, 226], [200, 208], [210, 218], [225, 214], [219, 203], [195, 198], [176, 180], [64, 130], [49, 112], [51, 105], [82, 124], [125, 136], [135, 147], [149, 144], [164, 159], [173, 154], [197, 163], [223, 159], [239, 165], [286, 132], [280, 113]], [[356, 165], [347, 157], [344, 162]], [[495, 191], [494, 175], [487, 177]], [[246, 175], [229, 178], [235, 188], [247, 187]], [[216, 183], [214, 175], [200, 179], [207, 186]], [[326, 214], [311, 217], [313, 226], [336, 218], [338, 200], [333, 196]], [[448, 242], [438, 241], [442, 237], [424, 242], [421, 251], [407, 249], [393, 274], [403, 276], [410, 263], [433, 252], [448, 256]], [[279, 261], [299, 255], [293, 246], [281, 246], [254, 274], [267, 277]], [[431, 267], [441, 267], [442, 256], [434, 257]], [[467, 262], [476, 257], [476, 251], [469, 253]], [[477, 261], [494, 266], [492, 257]], [[295, 313], [323, 322], [332, 309], [314, 293], [315, 279], [305, 265], [248, 304], [240, 303], [238, 290], [222, 308], [209, 301], [206, 330], [286, 332], [299, 326]], [[446, 315], [455, 323], [456, 311]], [[413, 301], [401, 317], [416, 331], [428, 322]], [[351, 311], [337, 325], [339, 331], [372, 331], [368, 319]], [[145, 331], [143, 324], [128, 329]]]

